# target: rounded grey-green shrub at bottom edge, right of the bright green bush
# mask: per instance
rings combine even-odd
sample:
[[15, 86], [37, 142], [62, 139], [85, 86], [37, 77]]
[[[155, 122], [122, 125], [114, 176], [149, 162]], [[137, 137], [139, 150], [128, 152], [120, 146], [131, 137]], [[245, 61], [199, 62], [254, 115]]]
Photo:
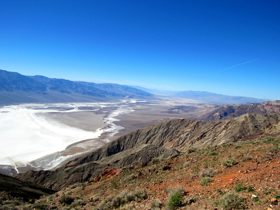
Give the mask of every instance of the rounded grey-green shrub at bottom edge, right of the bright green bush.
[[220, 198], [219, 205], [223, 209], [242, 209], [243, 199], [236, 192], [231, 191]]

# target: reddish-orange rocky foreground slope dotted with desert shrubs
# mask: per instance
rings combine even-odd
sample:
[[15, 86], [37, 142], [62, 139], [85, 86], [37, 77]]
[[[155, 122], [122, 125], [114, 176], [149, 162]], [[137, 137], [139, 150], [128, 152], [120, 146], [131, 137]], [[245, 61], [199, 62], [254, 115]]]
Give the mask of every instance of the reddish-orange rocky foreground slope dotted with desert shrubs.
[[[88, 182], [35, 202], [20, 202], [0, 192], [0, 209], [277, 210], [279, 132], [277, 123], [248, 141], [154, 158], [146, 166], [107, 167]], [[174, 202], [174, 192], [179, 202]]]

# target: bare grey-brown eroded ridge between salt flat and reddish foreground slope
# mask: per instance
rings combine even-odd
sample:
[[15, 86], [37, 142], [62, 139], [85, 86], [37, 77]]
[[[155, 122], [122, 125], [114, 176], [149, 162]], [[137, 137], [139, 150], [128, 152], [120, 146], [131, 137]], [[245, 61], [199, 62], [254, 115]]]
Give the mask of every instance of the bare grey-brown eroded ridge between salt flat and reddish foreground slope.
[[223, 143], [248, 140], [278, 125], [280, 114], [246, 114], [230, 120], [197, 122], [186, 119], [150, 125], [122, 136], [95, 152], [68, 162], [53, 171], [29, 171], [18, 178], [44, 187], [60, 189], [85, 182], [108, 166], [145, 165], [153, 157], [174, 156], [190, 147], [206, 148]]

